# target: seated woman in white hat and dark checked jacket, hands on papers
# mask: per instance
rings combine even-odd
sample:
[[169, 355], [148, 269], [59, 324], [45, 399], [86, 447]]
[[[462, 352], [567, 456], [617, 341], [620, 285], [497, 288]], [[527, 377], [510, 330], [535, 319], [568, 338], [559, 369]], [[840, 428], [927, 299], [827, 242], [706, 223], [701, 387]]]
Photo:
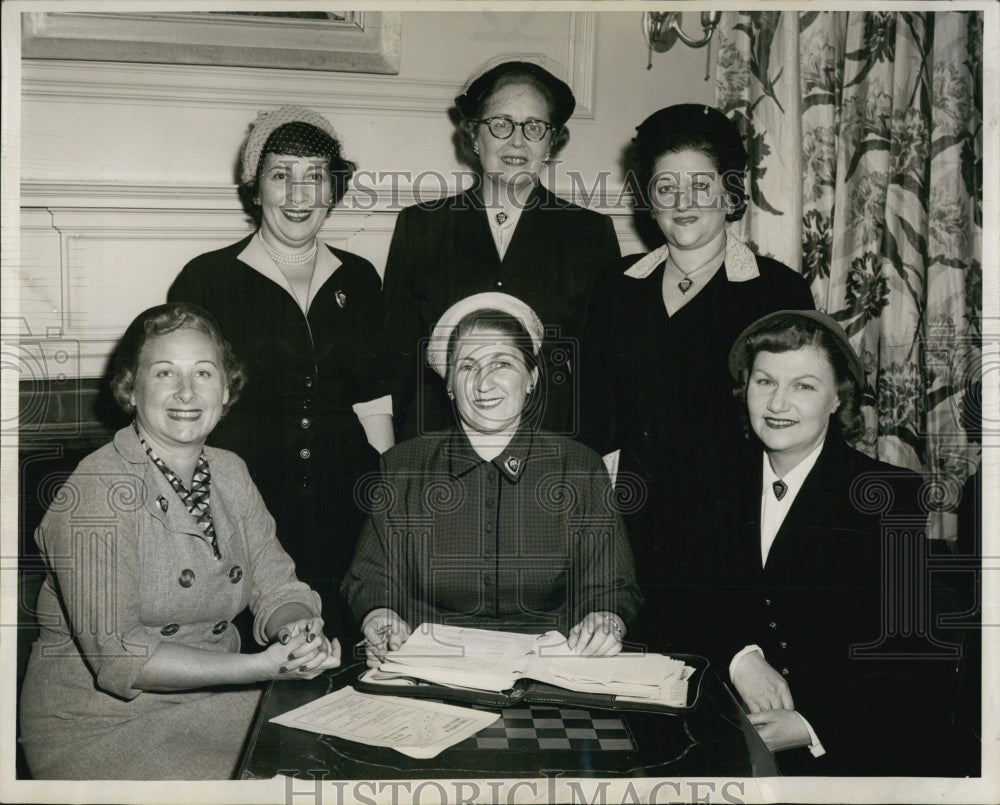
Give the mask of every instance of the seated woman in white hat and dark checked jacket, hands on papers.
[[542, 335], [500, 293], [435, 326], [427, 361], [458, 423], [382, 457], [342, 587], [370, 663], [425, 622], [557, 629], [581, 654], [621, 650], [641, 603], [632, 554], [600, 457], [532, 425]]

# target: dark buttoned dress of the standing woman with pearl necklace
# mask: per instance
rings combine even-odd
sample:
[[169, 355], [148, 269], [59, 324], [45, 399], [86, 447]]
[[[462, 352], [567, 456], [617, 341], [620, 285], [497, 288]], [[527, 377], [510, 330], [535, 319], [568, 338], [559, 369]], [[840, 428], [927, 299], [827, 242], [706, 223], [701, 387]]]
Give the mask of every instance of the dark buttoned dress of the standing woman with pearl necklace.
[[243, 363], [247, 385], [209, 442], [246, 461], [281, 544], [336, 631], [347, 623], [338, 613], [340, 579], [364, 522], [354, 484], [378, 468], [351, 406], [387, 393], [379, 277], [364, 258], [322, 246], [340, 266], [307, 318], [287, 291], [239, 259], [249, 241], [195, 257], [167, 298], [211, 313]]

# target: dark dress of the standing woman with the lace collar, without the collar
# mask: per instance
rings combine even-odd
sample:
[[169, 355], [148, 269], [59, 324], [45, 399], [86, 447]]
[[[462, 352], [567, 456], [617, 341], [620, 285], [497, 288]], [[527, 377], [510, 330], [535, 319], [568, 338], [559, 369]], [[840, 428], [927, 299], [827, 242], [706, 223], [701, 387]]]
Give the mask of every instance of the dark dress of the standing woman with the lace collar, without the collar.
[[[766, 313], [813, 308], [791, 268], [757, 256], [759, 276], [728, 279], [726, 266], [673, 316], [663, 305], [663, 264], [643, 279], [623, 257], [591, 295], [580, 371], [580, 441], [621, 450], [617, 488], [646, 604], [632, 638], [655, 651], [692, 651], [702, 629], [687, 612], [692, 552], [710, 507], [729, 486], [722, 467], [743, 434], [726, 358], [744, 327]], [[707, 581], [711, 580], [711, 576]]]

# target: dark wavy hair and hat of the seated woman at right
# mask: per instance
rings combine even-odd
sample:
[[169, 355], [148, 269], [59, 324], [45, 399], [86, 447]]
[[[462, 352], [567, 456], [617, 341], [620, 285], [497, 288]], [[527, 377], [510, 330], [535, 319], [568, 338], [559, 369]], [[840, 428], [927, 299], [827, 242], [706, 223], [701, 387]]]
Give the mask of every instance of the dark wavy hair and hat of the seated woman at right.
[[840, 435], [849, 442], [857, 440], [864, 432], [861, 417], [861, 387], [851, 371], [850, 362], [844, 353], [844, 345], [828, 328], [819, 322], [803, 317], [778, 317], [767, 325], [751, 333], [743, 341], [740, 356], [740, 378], [733, 390], [733, 396], [743, 402], [741, 417], [744, 430], [749, 433], [746, 411], [747, 385], [753, 362], [761, 352], [792, 352], [803, 347], [815, 347], [822, 352], [837, 383], [837, 399], [840, 406], [836, 410], [836, 423]]

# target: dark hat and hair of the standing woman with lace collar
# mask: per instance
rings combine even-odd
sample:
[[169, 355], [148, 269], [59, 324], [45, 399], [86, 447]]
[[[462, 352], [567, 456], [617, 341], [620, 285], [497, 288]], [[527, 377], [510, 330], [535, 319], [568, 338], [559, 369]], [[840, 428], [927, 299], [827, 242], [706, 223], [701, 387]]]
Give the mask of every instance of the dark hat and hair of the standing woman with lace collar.
[[733, 206], [727, 221], [738, 221], [746, 212], [747, 152], [739, 129], [718, 109], [701, 104], [678, 104], [660, 109], [636, 127], [635, 168], [638, 178], [637, 208], [652, 208], [651, 188], [657, 160], [678, 151], [699, 151], [710, 160]]

